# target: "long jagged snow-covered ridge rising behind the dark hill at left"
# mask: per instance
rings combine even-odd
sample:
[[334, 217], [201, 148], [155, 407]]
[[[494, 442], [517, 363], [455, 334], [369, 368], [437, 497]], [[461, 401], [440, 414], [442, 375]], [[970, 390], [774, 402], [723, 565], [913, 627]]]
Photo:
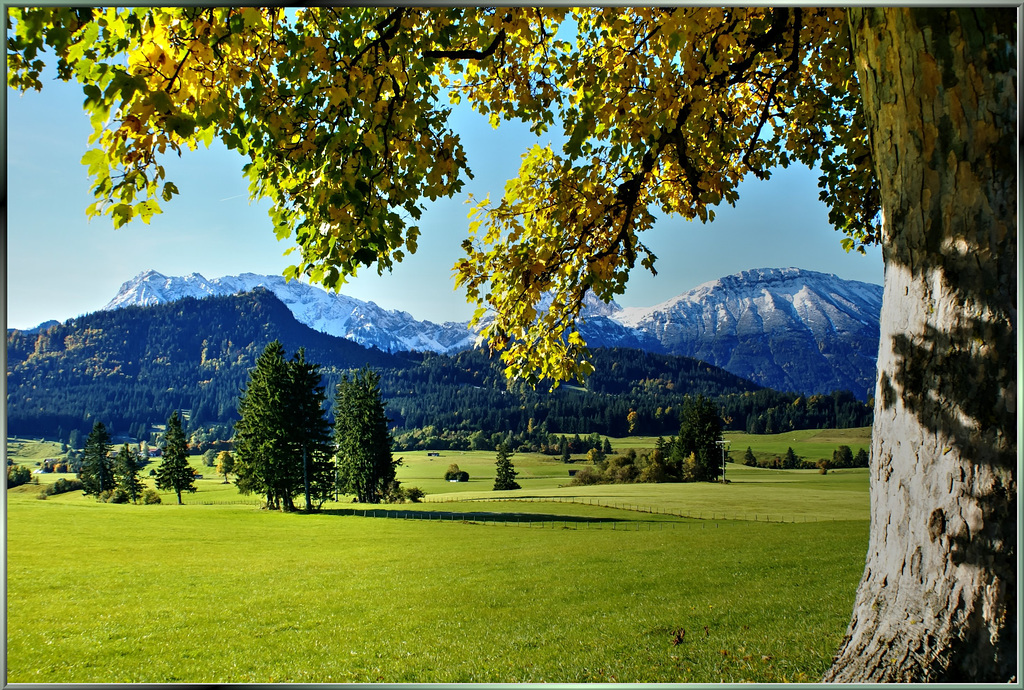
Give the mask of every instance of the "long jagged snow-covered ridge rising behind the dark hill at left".
[[407, 311], [384, 309], [374, 302], [331, 293], [299, 281], [289, 282], [281, 275], [242, 273], [207, 279], [199, 273], [166, 276], [148, 270], [122, 285], [103, 309], [163, 304], [184, 297], [233, 295], [255, 288], [272, 292], [296, 319], [316, 331], [385, 352], [458, 352], [476, 343], [476, 334], [471, 333], [465, 322], [420, 321]]

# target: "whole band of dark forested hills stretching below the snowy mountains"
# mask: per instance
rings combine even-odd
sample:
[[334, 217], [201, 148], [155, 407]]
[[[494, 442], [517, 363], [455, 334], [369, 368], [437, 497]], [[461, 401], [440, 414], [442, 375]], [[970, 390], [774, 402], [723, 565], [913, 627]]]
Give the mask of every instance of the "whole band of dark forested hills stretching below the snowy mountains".
[[864, 426], [870, 409], [849, 393], [803, 397], [764, 389], [688, 357], [598, 349], [583, 385], [554, 392], [509, 386], [484, 350], [388, 354], [298, 322], [271, 293], [184, 299], [82, 316], [38, 334], [8, 334], [11, 433], [81, 437], [101, 420], [139, 437], [187, 411], [194, 443], [225, 440], [238, 394], [270, 341], [323, 366], [328, 391], [345, 372], [381, 373], [398, 437], [416, 447], [468, 444], [476, 434], [671, 435], [686, 395], [713, 398], [726, 428], [755, 432]]

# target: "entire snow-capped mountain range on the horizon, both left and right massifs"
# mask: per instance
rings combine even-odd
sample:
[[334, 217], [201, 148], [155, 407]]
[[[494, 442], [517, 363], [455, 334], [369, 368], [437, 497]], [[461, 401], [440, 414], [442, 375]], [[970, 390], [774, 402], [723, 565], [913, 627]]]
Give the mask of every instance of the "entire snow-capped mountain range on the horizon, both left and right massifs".
[[[144, 271], [104, 310], [263, 288], [309, 328], [384, 352], [451, 354], [479, 344], [466, 321], [434, 324], [406, 311], [331, 293], [280, 275], [208, 279]], [[591, 347], [685, 355], [776, 390], [803, 394], [873, 390], [882, 287], [801, 268], [759, 268], [697, 286], [650, 307], [591, 297], [581, 333]]]

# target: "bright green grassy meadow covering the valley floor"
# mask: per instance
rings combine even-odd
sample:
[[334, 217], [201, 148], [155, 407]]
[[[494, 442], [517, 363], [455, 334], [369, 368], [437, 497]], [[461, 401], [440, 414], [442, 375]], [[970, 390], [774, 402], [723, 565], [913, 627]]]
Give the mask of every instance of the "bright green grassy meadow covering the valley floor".
[[520, 454], [498, 492], [493, 452], [398, 455], [425, 503], [272, 513], [211, 468], [184, 506], [9, 489], [7, 681], [816, 681], [846, 631], [866, 470], [568, 487]]

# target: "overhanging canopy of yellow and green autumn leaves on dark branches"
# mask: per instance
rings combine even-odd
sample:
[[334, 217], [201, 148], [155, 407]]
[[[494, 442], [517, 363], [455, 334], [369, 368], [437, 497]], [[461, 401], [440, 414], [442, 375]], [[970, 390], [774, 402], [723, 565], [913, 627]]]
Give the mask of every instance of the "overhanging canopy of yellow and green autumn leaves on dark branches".
[[637, 262], [654, 270], [653, 209], [711, 220], [744, 176], [799, 161], [820, 167], [848, 248], [878, 238], [841, 9], [11, 8], [9, 23], [10, 85], [41, 88], [44, 48], [83, 84], [90, 214], [146, 221], [177, 192], [163, 157], [216, 138], [295, 240], [287, 274], [332, 288], [415, 252], [424, 200], [462, 189], [454, 103], [560, 128], [560, 149], [532, 146], [502, 199], [476, 202], [455, 266], [511, 377], [591, 371], [575, 316], [587, 291], [611, 299]]

